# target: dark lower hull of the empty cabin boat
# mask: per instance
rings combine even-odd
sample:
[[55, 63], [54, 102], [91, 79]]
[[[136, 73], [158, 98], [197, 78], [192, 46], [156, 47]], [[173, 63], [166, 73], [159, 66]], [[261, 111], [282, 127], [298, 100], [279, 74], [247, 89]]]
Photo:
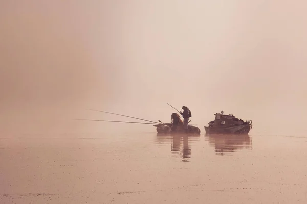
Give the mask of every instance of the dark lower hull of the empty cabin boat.
[[250, 124], [237, 125], [233, 127], [207, 127], [205, 126], [206, 134], [248, 134], [251, 130]]

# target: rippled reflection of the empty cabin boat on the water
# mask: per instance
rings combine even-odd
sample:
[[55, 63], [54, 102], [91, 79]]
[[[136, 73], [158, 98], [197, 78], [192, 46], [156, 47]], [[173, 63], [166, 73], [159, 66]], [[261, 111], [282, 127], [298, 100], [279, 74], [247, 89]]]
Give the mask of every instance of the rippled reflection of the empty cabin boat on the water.
[[224, 152], [235, 152], [238, 149], [252, 148], [252, 139], [249, 135], [205, 135], [210, 146], [215, 147], [218, 155]]

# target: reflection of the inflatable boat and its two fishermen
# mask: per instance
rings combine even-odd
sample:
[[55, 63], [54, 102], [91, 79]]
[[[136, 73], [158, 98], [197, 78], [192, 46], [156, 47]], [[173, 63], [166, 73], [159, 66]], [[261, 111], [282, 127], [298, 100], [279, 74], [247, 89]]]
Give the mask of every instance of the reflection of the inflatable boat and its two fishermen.
[[191, 141], [199, 140], [200, 134], [157, 134], [157, 143], [171, 143], [171, 153], [188, 162], [192, 155]]

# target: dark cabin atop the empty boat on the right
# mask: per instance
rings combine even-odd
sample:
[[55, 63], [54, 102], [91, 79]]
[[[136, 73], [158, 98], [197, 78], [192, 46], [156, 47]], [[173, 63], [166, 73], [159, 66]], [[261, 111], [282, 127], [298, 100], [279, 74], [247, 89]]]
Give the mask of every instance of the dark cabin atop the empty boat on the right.
[[215, 113], [215, 120], [209, 122], [209, 127], [231, 127], [236, 125], [242, 125], [244, 121], [234, 117], [234, 115], [223, 115]]

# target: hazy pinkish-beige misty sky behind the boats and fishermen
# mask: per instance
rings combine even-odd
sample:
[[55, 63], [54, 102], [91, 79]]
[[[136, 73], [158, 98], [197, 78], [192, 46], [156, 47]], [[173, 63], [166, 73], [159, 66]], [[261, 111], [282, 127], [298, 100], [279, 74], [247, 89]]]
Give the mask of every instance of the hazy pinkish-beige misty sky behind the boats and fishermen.
[[[305, 1], [1, 1], [2, 133], [102, 130], [117, 119], [169, 122], [188, 106], [253, 130], [303, 133]], [[268, 123], [272, 121], [272, 123]], [[155, 131], [152, 126], [112, 124]], [[278, 129], [277, 129], [278, 128]], [[252, 132], [251, 131], [251, 132]]]

